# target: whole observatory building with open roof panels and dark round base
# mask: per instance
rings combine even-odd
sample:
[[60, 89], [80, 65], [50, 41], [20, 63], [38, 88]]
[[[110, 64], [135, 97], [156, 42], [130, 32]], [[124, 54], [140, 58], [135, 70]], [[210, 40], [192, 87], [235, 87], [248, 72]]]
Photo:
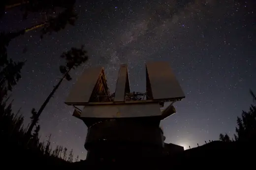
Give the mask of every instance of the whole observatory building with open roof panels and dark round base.
[[103, 67], [86, 69], [74, 84], [65, 104], [74, 106], [73, 115], [88, 127], [87, 160], [161, 157], [160, 121], [175, 113], [173, 103], [185, 95], [168, 63], [148, 62], [145, 73], [145, 92], [130, 91], [127, 64], [120, 66], [113, 94]]

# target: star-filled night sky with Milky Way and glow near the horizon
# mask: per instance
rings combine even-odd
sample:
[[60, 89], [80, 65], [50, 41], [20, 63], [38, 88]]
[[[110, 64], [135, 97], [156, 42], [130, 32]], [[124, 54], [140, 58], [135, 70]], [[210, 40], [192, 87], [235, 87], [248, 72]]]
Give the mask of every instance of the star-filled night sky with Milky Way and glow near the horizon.
[[[119, 65], [128, 63], [132, 91], [145, 91], [145, 61], [170, 63], [186, 98], [177, 113], [161, 122], [165, 142], [188, 148], [232, 136], [236, 117], [252, 104], [256, 91], [255, 0], [77, 0], [76, 26], [45, 36], [33, 30], [11, 41], [8, 56], [27, 59], [22, 79], [12, 92], [13, 110], [22, 108], [25, 124], [61, 78], [60, 55], [85, 45], [89, 61], [64, 81], [40, 117], [41, 139], [52, 134], [52, 146], [73, 148], [85, 158], [86, 125], [64, 104], [76, 78], [87, 67], [102, 65], [114, 92]], [[1, 31], [40, 22], [21, 21], [19, 10], [7, 11]], [[22, 53], [27, 49], [26, 53]]]

